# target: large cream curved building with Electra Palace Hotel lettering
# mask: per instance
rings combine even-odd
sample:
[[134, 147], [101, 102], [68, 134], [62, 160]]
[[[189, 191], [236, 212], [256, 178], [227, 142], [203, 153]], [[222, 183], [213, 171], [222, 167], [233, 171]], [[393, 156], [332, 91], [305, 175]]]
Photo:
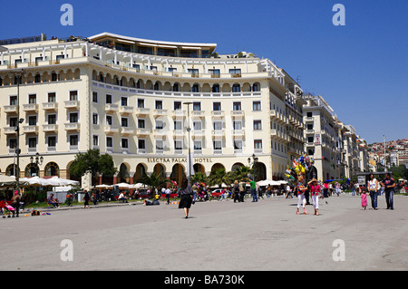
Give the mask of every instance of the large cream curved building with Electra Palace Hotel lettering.
[[[143, 172], [180, 181], [189, 173], [190, 148], [194, 171], [229, 171], [248, 166], [248, 159], [252, 165], [255, 154], [257, 179], [283, 179], [292, 159], [304, 154], [301, 88], [282, 68], [252, 53], [219, 55], [215, 43], [110, 33], [15, 41], [3, 48], [4, 174], [18, 169], [20, 177], [73, 178], [75, 154], [100, 149], [119, 171], [100, 177], [104, 183], [132, 183]], [[19, 136], [17, 112], [23, 121]], [[30, 160], [36, 153], [42, 163]], [[90, 187], [86, 177], [83, 188]]]

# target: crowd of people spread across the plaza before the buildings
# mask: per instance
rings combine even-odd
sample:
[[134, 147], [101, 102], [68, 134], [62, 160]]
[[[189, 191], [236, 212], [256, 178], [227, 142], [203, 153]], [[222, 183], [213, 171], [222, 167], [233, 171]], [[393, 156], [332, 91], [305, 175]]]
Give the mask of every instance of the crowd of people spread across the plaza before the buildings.
[[[406, 183], [397, 184], [391, 177], [390, 173], [386, 173], [384, 179], [382, 179], [381, 181], [374, 178], [374, 174], [371, 174], [364, 185], [351, 183], [349, 185], [346, 185], [345, 187], [337, 181], [325, 181], [322, 183], [318, 182], [316, 178], [312, 178], [310, 181], [306, 182], [305, 176], [300, 174], [296, 179], [296, 184], [289, 182], [285, 185], [282, 184], [280, 186], [259, 186], [253, 179], [249, 179], [248, 181], [244, 181], [243, 179], [241, 179], [240, 181], [236, 180], [230, 187], [222, 188], [220, 190], [221, 194], [219, 196], [219, 200], [232, 199], [234, 200], [234, 203], [240, 203], [244, 202], [245, 196], [248, 193], [250, 194], [250, 199], [252, 199], [252, 202], [257, 202], [258, 199], [264, 198], [264, 196], [271, 197], [274, 195], [284, 195], [285, 198], [293, 198], [294, 196], [296, 196], [296, 215], [301, 214], [301, 207], [303, 209], [303, 214], [308, 215], [306, 205], [313, 205], [315, 210], [314, 215], [318, 216], [319, 199], [331, 197], [334, 195], [339, 197], [345, 188], [351, 188], [352, 196], [357, 195], [361, 197], [361, 207], [364, 210], [367, 208], [369, 199], [371, 201], [371, 207], [374, 210], [377, 210], [378, 196], [382, 195], [385, 196], [387, 209], [393, 210], [393, 195], [398, 188], [403, 188], [403, 186], [407, 187], [408, 185]], [[160, 198], [159, 190], [156, 188], [154, 192], [154, 199], [158, 200]], [[101, 200], [99, 191], [92, 192], [90, 194], [86, 190], [84, 190], [83, 193], [84, 208], [90, 208], [90, 201], [92, 201], [93, 205], [97, 205]], [[150, 189], [148, 189], [146, 193], [150, 194]], [[190, 186], [187, 179], [183, 179], [180, 187], [167, 184], [165, 188], [161, 188], [161, 196], [166, 196], [167, 204], [170, 204], [170, 196], [174, 196], [174, 194], [177, 194], [177, 196], [180, 197], [179, 207], [184, 209], [186, 218], [189, 217], [189, 208], [192, 204], [195, 204], [195, 202], [198, 200], [206, 201], [211, 198], [210, 188], [208, 188], [205, 184], [194, 183]], [[17, 217], [20, 206], [24, 206], [24, 198], [22, 197], [22, 195], [22, 193], [18, 194], [15, 191], [15, 194], [12, 198], [11, 206], [14, 207], [13, 213], [16, 213]], [[130, 196], [126, 190], [121, 190], [117, 200], [122, 203], [127, 203], [131, 197], [137, 198], [139, 196], [139, 191], [134, 192]], [[310, 198], [312, 204], [310, 204]], [[60, 205], [58, 200], [53, 197], [53, 194], [47, 197], [46, 202], [48, 206], [52, 207], [59, 207]], [[73, 194], [71, 192], [68, 192], [66, 195], [66, 203], [68, 206], [72, 206]], [[325, 203], [327, 204], [327, 201], [325, 201]], [[145, 204], [156, 205], [157, 203], [149, 201], [149, 203]]]

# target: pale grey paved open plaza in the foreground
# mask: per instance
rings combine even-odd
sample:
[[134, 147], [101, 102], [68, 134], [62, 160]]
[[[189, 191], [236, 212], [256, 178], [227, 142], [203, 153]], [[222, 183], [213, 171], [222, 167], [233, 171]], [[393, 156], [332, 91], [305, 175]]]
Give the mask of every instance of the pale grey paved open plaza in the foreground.
[[408, 270], [408, 197], [393, 211], [384, 196], [376, 211], [328, 197], [320, 216], [297, 216], [296, 202], [199, 202], [188, 219], [164, 201], [1, 218], [0, 270]]

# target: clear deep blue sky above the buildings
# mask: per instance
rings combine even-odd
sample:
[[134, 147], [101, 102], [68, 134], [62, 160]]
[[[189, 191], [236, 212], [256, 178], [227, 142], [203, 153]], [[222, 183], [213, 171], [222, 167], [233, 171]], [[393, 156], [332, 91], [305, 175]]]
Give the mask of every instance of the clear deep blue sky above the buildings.
[[[60, 24], [65, 3], [73, 26]], [[345, 26], [332, 23], [337, 3]], [[408, 138], [407, 0], [6, 1], [0, 25], [0, 39], [111, 32], [256, 53], [322, 95], [369, 143]]]

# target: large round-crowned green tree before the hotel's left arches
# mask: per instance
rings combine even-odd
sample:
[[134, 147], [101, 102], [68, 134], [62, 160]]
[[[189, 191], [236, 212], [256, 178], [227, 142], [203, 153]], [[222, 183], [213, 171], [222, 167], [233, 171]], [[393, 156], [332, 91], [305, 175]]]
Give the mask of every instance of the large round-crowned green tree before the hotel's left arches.
[[70, 174], [73, 176], [83, 176], [86, 173], [92, 175], [92, 185], [96, 174], [113, 176], [117, 169], [114, 167], [111, 155], [101, 155], [99, 149], [88, 149], [87, 152], [79, 152], [75, 155], [73, 164], [70, 166]]

